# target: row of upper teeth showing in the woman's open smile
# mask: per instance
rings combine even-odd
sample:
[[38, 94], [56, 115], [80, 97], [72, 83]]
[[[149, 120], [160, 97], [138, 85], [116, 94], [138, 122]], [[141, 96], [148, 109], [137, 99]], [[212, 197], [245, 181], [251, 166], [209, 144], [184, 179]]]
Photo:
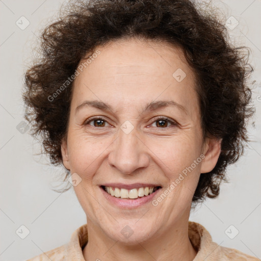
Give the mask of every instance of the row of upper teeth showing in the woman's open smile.
[[114, 188], [114, 187], [107, 187], [107, 186], [101, 186], [101, 188], [106, 191], [108, 194], [110, 194], [113, 197], [120, 198], [120, 199], [138, 199], [146, 197], [152, 193], [154, 193], [156, 190], [161, 189], [160, 186], [158, 187], [141, 187], [137, 189], [120, 189], [120, 188]]

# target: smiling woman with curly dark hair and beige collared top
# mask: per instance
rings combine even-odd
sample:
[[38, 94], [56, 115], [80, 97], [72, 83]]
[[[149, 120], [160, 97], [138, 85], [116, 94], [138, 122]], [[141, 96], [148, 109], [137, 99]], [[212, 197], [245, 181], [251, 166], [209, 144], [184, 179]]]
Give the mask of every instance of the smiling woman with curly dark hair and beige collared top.
[[25, 74], [25, 117], [87, 216], [30, 260], [258, 260], [189, 222], [246, 142], [252, 71], [189, 1], [70, 4]]

